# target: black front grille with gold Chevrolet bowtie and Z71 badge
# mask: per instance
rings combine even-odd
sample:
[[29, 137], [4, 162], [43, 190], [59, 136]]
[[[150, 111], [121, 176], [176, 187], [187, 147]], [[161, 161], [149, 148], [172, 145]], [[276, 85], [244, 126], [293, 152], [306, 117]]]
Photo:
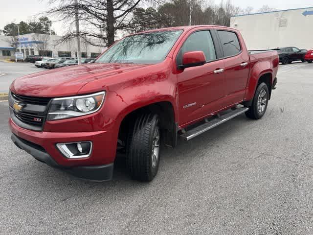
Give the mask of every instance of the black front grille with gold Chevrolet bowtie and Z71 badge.
[[[51, 98], [24, 96], [10, 93], [10, 114], [13, 121], [26, 129], [42, 131], [47, 116], [48, 104]], [[22, 109], [16, 111], [14, 103], [23, 105]]]

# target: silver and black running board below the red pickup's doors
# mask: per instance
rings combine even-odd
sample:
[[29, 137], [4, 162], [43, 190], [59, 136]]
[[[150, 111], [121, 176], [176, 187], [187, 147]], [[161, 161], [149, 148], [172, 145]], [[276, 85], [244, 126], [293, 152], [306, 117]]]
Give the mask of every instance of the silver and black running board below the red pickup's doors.
[[180, 137], [185, 141], [189, 141], [195, 138], [196, 136], [199, 136], [203, 132], [211, 130], [212, 128], [224, 123], [225, 121], [228, 121], [232, 118], [237, 117], [238, 115], [245, 113], [246, 111], [248, 111], [248, 109], [249, 108], [243, 107], [243, 108], [237, 108], [235, 110], [232, 110], [231, 112], [227, 114], [221, 115], [217, 118], [214, 118], [208, 122], [201, 124], [200, 126], [197, 126], [189, 131], [186, 131], [185, 133], [180, 135]]

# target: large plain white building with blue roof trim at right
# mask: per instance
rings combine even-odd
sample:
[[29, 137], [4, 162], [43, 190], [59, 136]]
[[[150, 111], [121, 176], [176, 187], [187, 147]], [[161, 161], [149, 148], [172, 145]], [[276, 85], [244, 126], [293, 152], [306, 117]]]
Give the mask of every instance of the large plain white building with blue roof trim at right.
[[242, 33], [248, 50], [313, 48], [313, 7], [233, 16], [230, 27]]

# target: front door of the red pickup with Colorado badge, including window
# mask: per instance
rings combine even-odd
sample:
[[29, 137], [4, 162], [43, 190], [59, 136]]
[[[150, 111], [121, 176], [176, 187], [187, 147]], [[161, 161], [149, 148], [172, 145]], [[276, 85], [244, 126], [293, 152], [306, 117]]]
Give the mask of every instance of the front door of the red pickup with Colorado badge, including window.
[[[215, 31], [198, 30], [190, 33], [176, 56], [176, 65], [182, 64], [182, 55], [187, 51], [203, 51], [206, 63], [186, 68], [178, 76], [179, 124], [187, 124], [221, 109], [219, 103], [225, 95], [224, 62], [219, 60], [220, 48]], [[215, 72], [214, 72], [215, 71]]]

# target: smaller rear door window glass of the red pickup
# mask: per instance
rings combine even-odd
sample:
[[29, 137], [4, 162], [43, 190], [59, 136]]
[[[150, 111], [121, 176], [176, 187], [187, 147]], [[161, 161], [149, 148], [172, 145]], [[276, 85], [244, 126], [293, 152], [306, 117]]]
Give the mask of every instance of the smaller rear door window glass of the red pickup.
[[218, 30], [221, 39], [224, 57], [236, 55], [241, 51], [237, 34], [230, 31]]

